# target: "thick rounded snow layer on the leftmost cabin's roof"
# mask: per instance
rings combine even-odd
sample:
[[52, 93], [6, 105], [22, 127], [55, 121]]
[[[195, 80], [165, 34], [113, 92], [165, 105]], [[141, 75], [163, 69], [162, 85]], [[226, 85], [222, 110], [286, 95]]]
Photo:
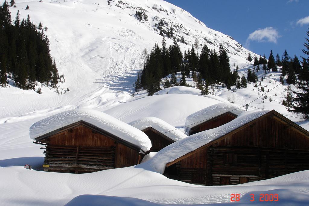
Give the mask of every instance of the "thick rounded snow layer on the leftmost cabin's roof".
[[40, 120], [30, 127], [30, 138], [35, 139], [81, 120], [136, 145], [144, 152], [151, 148], [151, 141], [144, 132], [108, 114], [92, 109], [73, 109]]

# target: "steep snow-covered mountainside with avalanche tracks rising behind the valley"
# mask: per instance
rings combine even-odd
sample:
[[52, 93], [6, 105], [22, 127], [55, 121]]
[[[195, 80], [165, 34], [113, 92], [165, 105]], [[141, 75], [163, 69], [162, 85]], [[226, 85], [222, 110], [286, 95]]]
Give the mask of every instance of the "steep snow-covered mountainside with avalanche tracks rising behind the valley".
[[[51, 107], [51, 111], [62, 111], [68, 107], [107, 107], [125, 102], [141, 69], [142, 51], [146, 48], [150, 52], [155, 43], [162, 41], [155, 26], [161, 19], [166, 30], [173, 28], [176, 39], [184, 36], [188, 45], [179, 43], [183, 51], [191, 48], [196, 39], [216, 51], [222, 43], [231, 65], [245, 63], [251, 53], [231, 37], [161, 0], [115, 0], [110, 1], [110, 6], [107, 1], [95, 0], [15, 2], [16, 8], [10, 8], [12, 21], [19, 10], [21, 18], [29, 14], [34, 24], [41, 22], [43, 28], [48, 27], [45, 33], [51, 55], [59, 74], [65, 76], [60, 88], [69, 87], [70, 92], [57, 95], [43, 87], [43, 95], [38, 95], [34, 91], [1, 88], [2, 123], [34, 109], [46, 113]], [[29, 10], [24, 9], [27, 5]], [[139, 21], [137, 11], [147, 15], [146, 20]], [[167, 39], [167, 44], [172, 44], [172, 40]]]

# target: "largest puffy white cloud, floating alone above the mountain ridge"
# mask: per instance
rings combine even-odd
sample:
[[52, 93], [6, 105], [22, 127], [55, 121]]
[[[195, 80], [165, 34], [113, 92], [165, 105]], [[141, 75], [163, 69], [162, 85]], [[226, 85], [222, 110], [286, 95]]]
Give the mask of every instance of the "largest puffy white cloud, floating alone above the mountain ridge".
[[277, 39], [280, 38], [279, 32], [273, 27], [266, 27], [264, 29], [258, 29], [249, 34], [246, 45], [249, 46], [250, 41], [257, 42], [273, 42], [277, 43]]

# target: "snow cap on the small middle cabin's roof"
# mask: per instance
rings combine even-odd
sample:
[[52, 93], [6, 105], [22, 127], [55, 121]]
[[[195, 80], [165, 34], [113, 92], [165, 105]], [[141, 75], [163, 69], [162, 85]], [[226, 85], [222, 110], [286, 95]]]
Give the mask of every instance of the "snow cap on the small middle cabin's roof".
[[138, 120], [132, 121], [129, 125], [138, 128], [139, 130], [143, 130], [146, 128], [154, 128], [158, 132], [164, 133], [165, 136], [169, 137], [174, 141], [181, 140], [187, 137], [186, 134], [180, 132], [178, 129], [168, 124], [167, 122], [157, 118], [157, 117], [144, 117]]

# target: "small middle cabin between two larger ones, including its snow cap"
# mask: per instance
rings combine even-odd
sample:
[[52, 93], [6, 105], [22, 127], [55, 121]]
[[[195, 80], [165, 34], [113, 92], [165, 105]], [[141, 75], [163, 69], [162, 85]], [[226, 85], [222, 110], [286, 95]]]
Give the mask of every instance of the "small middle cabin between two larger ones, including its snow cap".
[[157, 117], [140, 118], [130, 122], [129, 125], [141, 130], [149, 137], [152, 146], [146, 154], [150, 152], [158, 152], [167, 145], [188, 137], [171, 124], [168, 124]]

